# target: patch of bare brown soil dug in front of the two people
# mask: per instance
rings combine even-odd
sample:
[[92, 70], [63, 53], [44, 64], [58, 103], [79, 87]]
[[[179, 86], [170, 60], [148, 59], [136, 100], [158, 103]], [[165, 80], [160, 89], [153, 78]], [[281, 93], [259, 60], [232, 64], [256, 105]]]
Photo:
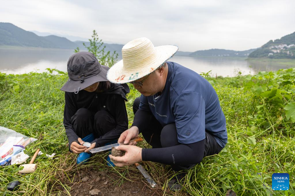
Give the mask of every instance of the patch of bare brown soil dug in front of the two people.
[[94, 168], [83, 168], [74, 177], [72, 176], [71, 179], [73, 179], [73, 182], [67, 182], [67, 184], [72, 185], [70, 193], [73, 196], [161, 195], [159, 190], [152, 189], [147, 182], [144, 182], [144, 177], [142, 179], [132, 180], [132, 182], [122, 178], [114, 171], [98, 171]]

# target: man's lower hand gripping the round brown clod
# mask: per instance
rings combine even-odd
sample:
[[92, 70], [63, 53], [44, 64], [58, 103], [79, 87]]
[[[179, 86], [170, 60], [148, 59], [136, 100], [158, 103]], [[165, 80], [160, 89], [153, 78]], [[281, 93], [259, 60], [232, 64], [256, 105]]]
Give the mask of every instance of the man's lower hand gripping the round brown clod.
[[115, 148], [116, 150], [126, 151], [125, 155], [122, 157], [114, 157], [113, 155], [109, 155], [111, 160], [117, 161], [118, 163], [114, 163], [118, 167], [133, 165], [134, 163], [138, 163], [142, 161], [141, 150], [137, 146], [133, 145], [120, 145]]

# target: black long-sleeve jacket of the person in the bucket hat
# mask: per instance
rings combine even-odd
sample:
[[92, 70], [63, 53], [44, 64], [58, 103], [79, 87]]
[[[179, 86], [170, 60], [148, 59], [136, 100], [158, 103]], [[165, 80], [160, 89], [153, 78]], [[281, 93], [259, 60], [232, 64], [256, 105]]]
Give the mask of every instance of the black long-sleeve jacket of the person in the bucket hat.
[[96, 142], [95, 148], [119, 138], [121, 133], [128, 128], [125, 100], [127, 101], [126, 94], [129, 93], [130, 90], [127, 84], [124, 84], [123, 86], [111, 83], [109, 90], [102, 93], [79, 91], [78, 94], [75, 94], [65, 92], [63, 124], [69, 140], [69, 147], [73, 141], [78, 142], [79, 137], [75, 133], [73, 125], [71, 124], [71, 117], [80, 108], [89, 109], [93, 115], [97, 111], [107, 110], [115, 119], [116, 128], [110, 130], [105, 135], [96, 138], [93, 141]]

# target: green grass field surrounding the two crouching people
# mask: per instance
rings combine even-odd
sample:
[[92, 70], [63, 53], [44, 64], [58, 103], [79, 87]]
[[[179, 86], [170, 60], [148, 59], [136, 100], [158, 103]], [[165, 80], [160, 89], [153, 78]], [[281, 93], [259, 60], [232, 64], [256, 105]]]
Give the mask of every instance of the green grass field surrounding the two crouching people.
[[[284, 109], [295, 101], [294, 76], [295, 69], [253, 77], [207, 77], [217, 91], [227, 119], [228, 143], [218, 155], [204, 158], [201, 164], [189, 170], [185, 188], [176, 193], [167, 187], [173, 176], [167, 165], [142, 163], [158, 183], [157, 192], [161, 195], [225, 195], [232, 189], [237, 195], [295, 195], [293, 110]], [[54, 160], [37, 157], [38, 169], [32, 174], [18, 175], [15, 165], [1, 167], [1, 193], [69, 195], [70, 182], [83, 167], [116, 173], [121, 176], [116, 182], [118, 185], [126, 180], [142, 180], [133, 166], [107, 167], [104, 160], [107, 153], [97, 154], [87, 165], [76, 166], [76, 155], [68, 152], [62, 124], [64, 93], [59, 88], [66, 78], [62, 73], [0, 73], [0, 125], [38, 139], [26, 148], [25, 153], [30, 157], [36, 148], [57, 154]], [[134, 117], [132, 103], [139, 96], [132, 86], [130, 88], [126, 103], [129, 126]], [[146, 142], [139, 146], [150, 148]], [[271, 175], [275, 172], [289, 173], [290, 190], [271, 190]], [[6, 185], [16, 179], [21, 181], [19, 190], [7, 191]]]

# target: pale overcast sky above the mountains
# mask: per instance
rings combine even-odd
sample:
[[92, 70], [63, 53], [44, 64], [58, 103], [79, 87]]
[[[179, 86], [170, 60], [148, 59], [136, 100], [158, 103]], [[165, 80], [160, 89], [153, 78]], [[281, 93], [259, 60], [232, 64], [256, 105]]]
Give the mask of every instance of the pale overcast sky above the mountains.
[[0, 22], [107, 43], [139, 37], [180, 51], [248, 50], [295, 31], [294, 0], [1, 1]]

